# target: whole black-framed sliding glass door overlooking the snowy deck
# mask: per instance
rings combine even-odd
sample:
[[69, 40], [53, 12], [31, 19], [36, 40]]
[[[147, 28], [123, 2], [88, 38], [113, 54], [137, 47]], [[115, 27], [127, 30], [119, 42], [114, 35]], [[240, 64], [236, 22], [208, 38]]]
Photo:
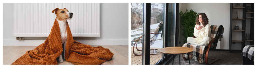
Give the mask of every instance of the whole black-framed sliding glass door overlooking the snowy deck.
[[176, 4], [131, 3], [131, 64], [159, 64], [159, 50], [175, 46], [175, 10]]

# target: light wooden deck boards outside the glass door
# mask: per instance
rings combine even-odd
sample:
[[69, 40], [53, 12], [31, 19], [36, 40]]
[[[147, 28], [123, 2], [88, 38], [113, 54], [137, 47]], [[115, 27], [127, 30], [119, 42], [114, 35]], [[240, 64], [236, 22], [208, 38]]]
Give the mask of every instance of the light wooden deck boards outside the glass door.
[[[138, 49], [142, 49], [142, 47], [137, 47]], [[159, 60], [162, 59], [162, 53], [159, 52], [161, 48], [150, 48], [150, 49], [158, 49], [156, 50], [157, 55], [150, 55], [150, 64], [155, 64]], [[134, 48], [136, 54], [142, 54], [142, 51], [137, 51], [136, 47]], [[153, 50], [150, 51], [150, 53], [153, 53]], [[142, 55], [141, 56], [135, 56], [133, 54], [133, 47], [131, 47], [131, 65], [141, 65], [142, 64]]]

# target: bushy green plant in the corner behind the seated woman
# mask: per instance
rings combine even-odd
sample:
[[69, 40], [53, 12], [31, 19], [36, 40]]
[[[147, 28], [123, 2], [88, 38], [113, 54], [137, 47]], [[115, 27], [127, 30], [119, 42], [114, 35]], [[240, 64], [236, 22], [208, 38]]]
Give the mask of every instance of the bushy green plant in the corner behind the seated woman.
[[181, 25], [184, 27], [183, 29], [180, 27], [183, 30], [182, 36], [185, 37], [185, 39], [183, 37], [184, 43], [187, 42], [187, 37], [194, 36], [194, 27], [198, 14], [193, 9], [190, 9], [190, 11], [187, 9], [185, 13], [179, 12]]

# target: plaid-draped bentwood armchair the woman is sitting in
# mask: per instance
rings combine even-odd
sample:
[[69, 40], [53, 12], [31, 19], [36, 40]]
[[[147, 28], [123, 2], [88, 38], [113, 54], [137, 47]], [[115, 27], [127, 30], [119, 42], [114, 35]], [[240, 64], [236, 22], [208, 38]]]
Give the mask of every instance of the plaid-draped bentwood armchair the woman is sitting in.
[[[193, 52], [189, 53], [190, 54], [189, 57], [192, 57], [193, 60], [198, 61], [200, 63], [204, 62], [203, 61], [204, 58], [205, 58], [205, 63], [206, 64], [212, 64], [212, 63], [214, 63], [214, 62], [219, 60], [219, 59], [208, 58], [208, 54], [209, 54], [209, 50], [210, 49], [211, 50], [215, 50], [216, 49], [218, 40], [221, 41], [221, 38], [222, 38], [222, 35], [223, 35], [223, 32], [224, 32], [224, 28], [223, 28], [222, 25], [211, 25], [210, 28], [211, 28], [211, 31], [210, 31], [211, 32], [210, 33], [211, 38], [210, 39], [212, 39], [212, 41], [210, 41], [208, 45], [199, 46], [199, 45], [193, 45], [193, 44], [190, 44], [190, 43], [185, 43], [183, 45], [183, 47], [190, 47], [190, 48], [194, 49]], [[195, 36], [193, 36], [193, 37], [195, 38]], [[199, 51], [199, 48], [201, 48], [201, 47], [202, 48], [204, 47], [204, 52], [203, 51]], [[199, 54], [199, 52], [203, 52], [203, 54]], [[205, 57], [204, 57], [204, 53], [205, 53]], [[188, 57], [187, 54], [184, 54], [182, 56], [183, 56], [183, 59], [188, 60], [188, 58], [186, 59], [186, 57]], [[196, 57], [198, 57], [198, 58], [196, 58]], [[208, 59], [212, 59], [213, 61], [208, 63]]]

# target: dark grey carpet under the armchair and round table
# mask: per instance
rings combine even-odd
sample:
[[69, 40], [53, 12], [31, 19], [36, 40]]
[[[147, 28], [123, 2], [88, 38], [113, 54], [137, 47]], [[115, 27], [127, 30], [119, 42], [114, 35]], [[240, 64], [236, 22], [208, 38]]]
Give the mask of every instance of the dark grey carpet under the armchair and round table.
[[[219, 58], [218, 61], [214, 62], [213, 65], [215, 64], [225, 64], [225, 65], [230, 65], [230, 64], [243, 64], [243, 58], [241, 55], [241, 51], [232, 51], [232, 53], [230, 53], [229, 51], [209, 51], [209, 58], [214, 58], [217, 59]], [[172, 61], [171, 60], [168, 64], [172, 65]], [[209, 62], [213, 61], [208, 59]], [[188, 60], [184, 60], [183, 57], [180, 57], [180, 63], [181, 65], [185, 65], [185, 64], [189, 64]], [[176, 55], [174, 58], [174, 64], [179, 64], [179, 55]], [[205, 65], [201, 64], [197, 61], [194, 61], [192, 59], [190, 59], [190, 64], [191, 65]]]

